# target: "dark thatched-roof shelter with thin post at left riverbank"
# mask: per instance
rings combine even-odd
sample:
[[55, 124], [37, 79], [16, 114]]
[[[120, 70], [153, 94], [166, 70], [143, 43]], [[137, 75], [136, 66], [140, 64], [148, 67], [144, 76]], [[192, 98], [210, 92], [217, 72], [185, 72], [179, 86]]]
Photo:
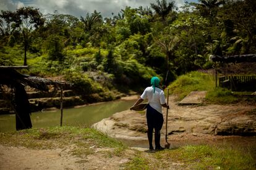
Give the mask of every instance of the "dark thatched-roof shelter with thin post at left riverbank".
[[[11, 86], [15, 89], [14, 103], [10, 100], [9, 103], [12, 109], [15, 111], [16, 129], [28, 129], [32, 127], [30, 119], [30, 103], [28, 101], [27, 92], [25, 86], [30, 86], [40, 91], [48, 91], [49, 85], [54, 85], [58, 89], [61, 89], [61, 124], [62, 124], [62, 89], [67, 86], [72, 86], [70, 83], [61, 81], [52, 81], [50, 79], [40, 78], [36, 76], [23, 75], [15, 69], [23, 69], [27, 67], [6, 67], [0, 66], [0, 85]], [[0, 89], [2, 92], [2, 88]]]

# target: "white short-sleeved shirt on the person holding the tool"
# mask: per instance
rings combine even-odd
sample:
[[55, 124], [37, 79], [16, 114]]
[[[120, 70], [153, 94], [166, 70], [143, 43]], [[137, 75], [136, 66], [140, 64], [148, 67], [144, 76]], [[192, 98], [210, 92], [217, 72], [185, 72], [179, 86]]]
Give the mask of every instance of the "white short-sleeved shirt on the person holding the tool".
[[162, 113], [162, 105], [166, 103], [164, 92], [158, 87], [155, 88], [155, 93], [153, 92], [153, 87], [147, 87], [140, 98], [148, 99], [149, 105], [155, 108], [159, 113]]

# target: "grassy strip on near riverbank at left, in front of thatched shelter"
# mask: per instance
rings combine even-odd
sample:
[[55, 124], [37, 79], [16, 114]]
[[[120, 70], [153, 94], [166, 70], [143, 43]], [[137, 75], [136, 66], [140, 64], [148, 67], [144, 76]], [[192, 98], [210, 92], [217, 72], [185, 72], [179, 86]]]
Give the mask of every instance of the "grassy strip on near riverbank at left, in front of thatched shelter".
[[[9, 146], [23, 146], [36, 149], [65, 148], [75, 144], [71, 152], [73, 155], [92, 154], [91, 147], [114, 148], [114, 153], [120, 153], [126, 145], [118, 140], [93, 128], [79, 128], [72, 126], [48, 127], [40, 129], [25, 129], [17, 132], [0, 134], [0, 144]], [[117, 152], [118, 151], [118, 152]]]

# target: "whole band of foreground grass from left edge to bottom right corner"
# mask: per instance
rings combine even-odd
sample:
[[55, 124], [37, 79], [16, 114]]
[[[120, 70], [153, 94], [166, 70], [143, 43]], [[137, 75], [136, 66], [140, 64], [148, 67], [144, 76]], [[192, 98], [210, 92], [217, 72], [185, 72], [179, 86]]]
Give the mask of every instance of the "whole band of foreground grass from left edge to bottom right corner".
[[132, 150], [95, 129], [82, 127], [49, 127], [1, 133], [0, 144], [35, 150], [69, 148], [68, 155], [81, 159], [76, 163], [83, 163], [88, 155], [102, 159], [102, 164], [113, 161], [113, 158], [128, 160], [117, 165], [121, 169], [255, 169], [250, 150], [225, 144], [185, 145], [147, 153]]

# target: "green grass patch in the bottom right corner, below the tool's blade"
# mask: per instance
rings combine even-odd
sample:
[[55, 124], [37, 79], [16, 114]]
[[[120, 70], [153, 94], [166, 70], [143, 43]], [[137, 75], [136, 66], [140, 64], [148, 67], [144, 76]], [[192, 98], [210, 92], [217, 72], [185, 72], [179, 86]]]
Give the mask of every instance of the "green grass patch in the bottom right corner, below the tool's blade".
[[255, 169], [256, 164], [250, 154], [231, 147], [209, 145], [187, 145], [175, 150], [164, 150], [155, 154], [161, 160], [182, 163], [189, 169]]

